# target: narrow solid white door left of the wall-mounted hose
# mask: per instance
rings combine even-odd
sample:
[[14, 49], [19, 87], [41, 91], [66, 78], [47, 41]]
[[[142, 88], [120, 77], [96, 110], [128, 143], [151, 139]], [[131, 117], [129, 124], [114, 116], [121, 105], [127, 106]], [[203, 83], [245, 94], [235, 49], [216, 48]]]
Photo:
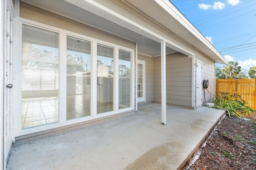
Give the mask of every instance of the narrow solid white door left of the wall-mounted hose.
[[202, 66], [203, 63], [196, 60], [196, 107], [202, 105]]

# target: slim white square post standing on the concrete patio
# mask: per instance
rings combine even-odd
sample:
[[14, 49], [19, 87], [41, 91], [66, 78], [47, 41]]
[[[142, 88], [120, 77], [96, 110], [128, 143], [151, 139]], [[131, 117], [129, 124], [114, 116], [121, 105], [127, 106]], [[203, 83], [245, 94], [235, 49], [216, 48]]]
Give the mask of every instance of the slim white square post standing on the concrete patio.
[[166, 125], [166, 42], [161, 42], [162, 125]]

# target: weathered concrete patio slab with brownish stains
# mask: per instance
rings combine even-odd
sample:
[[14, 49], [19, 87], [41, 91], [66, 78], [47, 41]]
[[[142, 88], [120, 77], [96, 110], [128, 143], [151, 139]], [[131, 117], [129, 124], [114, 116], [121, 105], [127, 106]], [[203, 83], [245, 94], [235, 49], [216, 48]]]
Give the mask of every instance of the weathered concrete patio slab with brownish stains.
[[184, 169], [224, 116], [223, 110], [138, 106], [135, 115], [32, 142], [16, 141], [7, 170]]

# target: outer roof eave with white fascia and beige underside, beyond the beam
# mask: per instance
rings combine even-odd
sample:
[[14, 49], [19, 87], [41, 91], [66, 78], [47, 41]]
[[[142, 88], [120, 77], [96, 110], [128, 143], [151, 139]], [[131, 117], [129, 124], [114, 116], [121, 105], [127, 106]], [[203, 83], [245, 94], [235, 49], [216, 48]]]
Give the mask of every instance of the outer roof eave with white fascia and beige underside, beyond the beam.
[[[160, 25], [201, 51], [216, 63], [227, 64], [219, 51], [186, 19], [186, 17], [169, 0], [151, 0], [145, 4], [137, 0], [125, 0], [136, 6]], [[168, 20], [166, 19], [168, 18]]]

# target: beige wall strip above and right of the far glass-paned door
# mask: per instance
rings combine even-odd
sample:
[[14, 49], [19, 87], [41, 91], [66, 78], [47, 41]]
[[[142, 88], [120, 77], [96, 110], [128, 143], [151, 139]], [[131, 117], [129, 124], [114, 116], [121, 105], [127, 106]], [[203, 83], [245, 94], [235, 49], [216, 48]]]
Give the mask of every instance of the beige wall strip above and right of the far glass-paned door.
[[145, 102], [152, 102], [152, 94], [153, 94], [153, 72], [152, 72], [152, 57], [148, 57], [145, 55], [138, 54], [138, 60], [142, 60], [146, 62], [146, 99]]

